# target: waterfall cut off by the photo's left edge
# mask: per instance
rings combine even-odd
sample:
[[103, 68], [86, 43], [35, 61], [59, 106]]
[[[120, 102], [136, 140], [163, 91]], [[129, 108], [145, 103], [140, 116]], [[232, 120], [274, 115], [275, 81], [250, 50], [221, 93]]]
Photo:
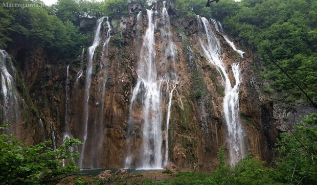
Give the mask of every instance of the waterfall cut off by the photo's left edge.
[[18, 135], [20, 99], [16, 89], [16, 74], [8, 53], [0, 50], [0, 124], [11, 122], [8, 131]]

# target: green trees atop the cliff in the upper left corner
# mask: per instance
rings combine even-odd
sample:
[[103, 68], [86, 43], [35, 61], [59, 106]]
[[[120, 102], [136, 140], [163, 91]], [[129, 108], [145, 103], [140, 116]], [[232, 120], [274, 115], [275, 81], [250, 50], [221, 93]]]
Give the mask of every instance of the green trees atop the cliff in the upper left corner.
[[[35, 3], [25, 0], [7, 2], [8, 4]], [[85, 45], [87, 40], [79, 32], [78, 27], [73, 25], [74, 17], [78, 16], [72, 14], [75, 11], [72, 2], [72, 0], [60, 0], [51, 8], [0, 7], [0, 17], [2, 17], [0, 45], [6, 47], [10, 42], [19, 43], [22, 47], [36, 44], [50, 51], [49, 53], [54, 56], [64, 59], [75, 58], [80, 47]]]

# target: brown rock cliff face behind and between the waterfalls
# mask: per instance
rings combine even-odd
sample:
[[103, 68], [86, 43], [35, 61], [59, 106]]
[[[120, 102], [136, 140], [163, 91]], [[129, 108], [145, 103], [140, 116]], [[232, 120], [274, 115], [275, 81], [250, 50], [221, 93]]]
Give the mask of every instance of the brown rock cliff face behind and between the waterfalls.
[[[157, 3], [153, 11], [158, 22], [163, 8], [163, 3]], [[36, 45], [9, 47], [8, 53], [14, 56], [18, 79], [22, 81], [18, 86], [23, 83], [30, 97], [30, 100], [21, 97], [27, 102], [26, 113], [20, 115], [24, 121], [14, 123], [19, 125], [22, 140], [28, 144], [52, 140], [54, 131], [56, 145], [67, 136], [85, 140], [84, 146], [75, 148], [82, 152], [78, 163], [83, 168], [124, 167], [127, 160], [130, 167], [139, 166], [144, 152], [142, 129], [146, 120], [141, 108], [142, 96], [133, 104], [131, 99], [138, 78], [142, 78], [138, 76], [138, 67], [142, 65], [143, 38], [149, 24], [147, 12], [137, 14], [139, 9], [140, 5], [132, 6], [130, 16], [121, 20], [106, 22], [107, 19], [103, 19], [101, 41], [93, 54], [89, 88], [86, 85], [91, 58], [88, 48], [69, 63], [50, 56]], [[169, 15], [176, 15], [172, 4], [167, 4], [166, 9]], [[177, 51], [173, 67], [178, 81], [174, 86], [162, 85], [160, 91], [161, 154], [164, 158], [167, 148], [168, 161], [183, 171], [212, 171], [217, 165], [219, 148], [228, 142], [222, 108], [224, 83], [223, 74], [201, 49], [199, 38], [203, 33], [197, 21], [170, 18], [171, 38]], [[96, 25], [96, 19], [85, 19], [83, 24], [87, 22]], [[160, 28], [160, 23], [154, 28], [157, 79], [171, 71], [169, 62], [173, 60], [166, 55], [166, 33]], [[287, 108], [271, 101], [262, 91], [263, 81], [256, 69], [259, 59], [249, 51], [244, 51], [242, 58], [214, 27], [212, 29], [221, 44], [221, 59], [231, 82], [235, 81], [231, 65], [240, 63], [239, 119], [247, 138], [247, 152], [271, 161], [276, 138], [280, 131], [285, 131], [280, 122], [287, 120], [281, 121], [281, 118], [297, 119], [300, 112], [289, 113]], [[107, 39], [109, 42], [104, 45]], [[238, 42], [234, 43], [239, 48]], [[18, 87], [18, 90], [24, 88]], [[228, 154], [229, 150], [226, 151]]]

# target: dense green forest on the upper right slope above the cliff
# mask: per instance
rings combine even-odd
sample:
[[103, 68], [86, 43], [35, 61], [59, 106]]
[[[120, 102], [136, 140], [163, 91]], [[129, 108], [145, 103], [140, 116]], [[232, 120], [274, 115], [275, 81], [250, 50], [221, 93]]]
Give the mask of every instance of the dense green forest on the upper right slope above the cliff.
[[[221, 4], [220, 4], [221, 3]], [[230, 6], [221, 7], [222, 4]], [[273, 82], [268, 93], [276, 89], [297, 99], [303, 98], [298, 88], [270, 62], [264, 50], [298, 82], [314, 99], [317, 94], [317, 2], [305, 0], [244, 0], [240, 3], [221, 1], [211, 7], [213, 17], [221, 21], [226, 31], [249, 49], [258, 52], [268, 71], [265, 77]], [[224, 8], [224, 10], [222, 9]], [[230, 12], [230, 16], [225, 15]], [[290, 92], [290, 93], [289, 93]]]

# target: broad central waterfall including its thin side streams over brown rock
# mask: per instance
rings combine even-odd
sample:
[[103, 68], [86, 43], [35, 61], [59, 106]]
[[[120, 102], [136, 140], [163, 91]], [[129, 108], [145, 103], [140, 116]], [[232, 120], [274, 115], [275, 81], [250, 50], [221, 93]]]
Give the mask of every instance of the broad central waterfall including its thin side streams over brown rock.
[[[170, 22], [166, 10], [166, 2], [161, 12], [147, 10], [148, 27], [143, 36], [143, 43], [140, 48], [140, 60], [138, 63], [137, 85], [133, 89], [130, 101], [129, 127], [133, 129], [133, 118], [141, 114], [142, 117], [142, 152], [137, 168], [141, 169], [160, 169], [168, 162], [168, 130], [170, 121], [170, 109], [172, 104], [173, 91], [176, 89], [178, 79], [175, 74], [176, 47], [173, 43], [170, 31]], [[140, 20], [138, 14], [137, 22]], [[156, 56], [155, 30], [160, 30], [162, 45], [160, 57]], [[139, 32], [137, 32], [139, 33]], [[163, 94], [163, 87], [166, 92]], [[163, 102], [168, 99], [168, 104]], [[140, 110], [136, 109], [136, 104], [141, 101]], [[166, 113], [166, 120], [163, 114]], [[165, 124], [165, 148], [163, 145], [163, 130]], [[132, 132], [132, 131], [130, 131]], [[130, 133], [131, 136], [131, 133]], [[129, 138], [128, 142], [131, 138]], [[129, 146], [129, 144], [128, 144]], [[130, 152], [130, 148], [128, 149]], [[130, 167], [133, 156], [126, 158], [126, 167]]]

